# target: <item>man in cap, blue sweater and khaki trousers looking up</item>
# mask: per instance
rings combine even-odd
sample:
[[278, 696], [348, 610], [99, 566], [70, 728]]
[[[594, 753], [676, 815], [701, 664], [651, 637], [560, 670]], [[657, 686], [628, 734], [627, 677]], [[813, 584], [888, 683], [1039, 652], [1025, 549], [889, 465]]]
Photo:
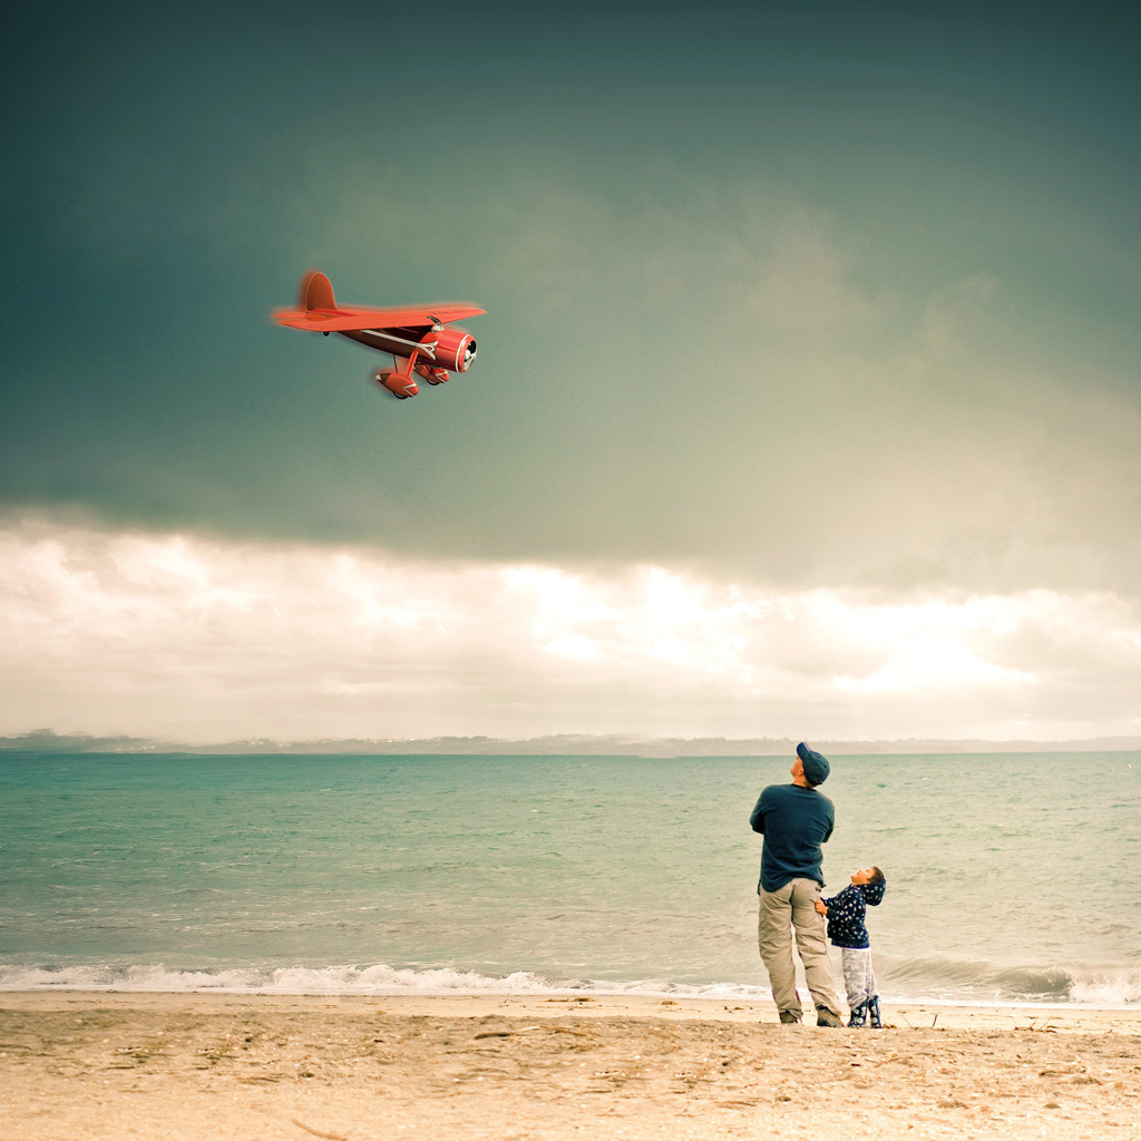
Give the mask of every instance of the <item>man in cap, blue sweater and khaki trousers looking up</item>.
[[761, 882], [756, 888], [760, 896], [756, 944], [782, 1022], [799, 1022], [804, 1013], [796, 994], [796, 966], [792, 957], [795, 931], [804, 979], [816, 1004], [816, 1025], [840, 1026], [840, 1000], [828, 966], [826, 924], [816, 912], [824, 887], [820, 844], [832, 835], [835, 823], [832, 801], [816, 791], [827, 779], [828, 762], [801, 742], [788, 771], [792, 784], [769, 785], [748, 822], [754, 832], [764, 836]]

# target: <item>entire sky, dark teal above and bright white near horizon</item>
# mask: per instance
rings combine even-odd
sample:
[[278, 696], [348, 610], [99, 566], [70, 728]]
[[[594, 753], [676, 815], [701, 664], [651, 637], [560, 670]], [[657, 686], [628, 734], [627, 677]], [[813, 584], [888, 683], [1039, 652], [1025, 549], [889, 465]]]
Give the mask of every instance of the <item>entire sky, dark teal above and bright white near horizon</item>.
[[6, 16], [0, 735], [1141, 735], [1139, 25]]

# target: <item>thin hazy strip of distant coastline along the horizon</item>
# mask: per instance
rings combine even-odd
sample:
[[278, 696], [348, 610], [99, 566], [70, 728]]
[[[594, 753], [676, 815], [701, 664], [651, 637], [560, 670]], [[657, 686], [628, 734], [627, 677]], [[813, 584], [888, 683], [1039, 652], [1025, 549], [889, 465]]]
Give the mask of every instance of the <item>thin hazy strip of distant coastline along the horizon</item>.
[[[1095, 753], [1141, 752], [1141, 737], [1091, 737], [1076, 741], [830, 741], [815, 747], [837, 755], [890, 753]], [[408, 741], [346, 738], [273, 741], [250, 738], [211, 744], [146, 737], [57, 734], [35, 729], [0, 737], [0, 752], [19, 753], [355, 753], [365, 755], [471, 754], [491, 756], [780, 756], [792, 752], [791, 737], [642, 737], [634, 734], [553, 734], [510, 741], [496, 737], [414, 737]]]

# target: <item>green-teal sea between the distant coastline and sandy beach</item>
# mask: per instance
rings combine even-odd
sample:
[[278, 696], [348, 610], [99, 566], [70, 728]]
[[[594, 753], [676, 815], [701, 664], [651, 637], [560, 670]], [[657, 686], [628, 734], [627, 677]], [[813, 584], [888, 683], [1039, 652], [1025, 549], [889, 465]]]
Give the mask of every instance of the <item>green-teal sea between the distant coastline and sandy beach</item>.
[[[791, 760], [0, 753], [0, 989], [766, 997]], [[1141, 1003], [1141, 753], [831, 761], [885, 1003]]]

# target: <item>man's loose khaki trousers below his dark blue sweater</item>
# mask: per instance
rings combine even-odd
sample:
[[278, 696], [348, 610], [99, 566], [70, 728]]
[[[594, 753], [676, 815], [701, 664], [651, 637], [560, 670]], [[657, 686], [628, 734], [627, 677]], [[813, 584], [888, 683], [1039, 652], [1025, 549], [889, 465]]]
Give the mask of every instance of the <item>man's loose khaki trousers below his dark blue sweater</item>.
[[815, 880], [790, 880], [778, 891], [761, 890], [756, 946], [769, 972], [777, 1010], [791, 1011], [798, 1018], [804, 1011], [796, 994], [796, 964], [792, 957], [794, 931], [812, 1002], [840, 1017], [840, 1000], [828, 966], [827, 924], [815, 906], [819, 898], [820, 885]]

